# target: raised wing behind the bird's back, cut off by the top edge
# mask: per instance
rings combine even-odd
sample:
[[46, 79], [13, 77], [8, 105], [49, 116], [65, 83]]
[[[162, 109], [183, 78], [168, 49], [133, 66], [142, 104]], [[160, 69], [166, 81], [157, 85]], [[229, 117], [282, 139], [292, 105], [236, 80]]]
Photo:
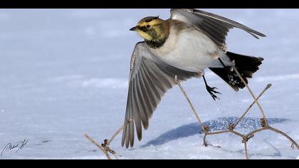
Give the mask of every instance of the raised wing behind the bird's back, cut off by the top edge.
[[199, 28], [223, 51], [226, 51], [226, 36], [231, 28], [241, 28], [255, 38], [258, 38], [258, 36], [266, 37], [263, 33], [248, 28], [241, 23], [206, 11], [197, 9], [172, 9], [171, 14], [171, 19], [189, 23]]

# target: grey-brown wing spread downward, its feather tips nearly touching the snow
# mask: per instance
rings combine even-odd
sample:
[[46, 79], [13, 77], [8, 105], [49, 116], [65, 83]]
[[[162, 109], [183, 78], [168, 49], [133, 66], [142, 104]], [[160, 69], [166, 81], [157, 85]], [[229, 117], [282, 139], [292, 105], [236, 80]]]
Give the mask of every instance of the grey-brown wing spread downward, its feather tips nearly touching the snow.
[[[144, 42], [137, 43], [131, 58], [129, 90], [125, 112], [125, 126], [122, 133], [122, 146], [133, 147], [134, 131], [142, 139], [142, 125], [147, 130], [149, 120], [161, 101], [162, 96], [172, 88], [175, 75], [179, 80], [187, 80], [199, 73], [188, 72], [174, 68], [159, 60], [148, 51]], [[135, 126], [135, 127], [134, 127]]]

